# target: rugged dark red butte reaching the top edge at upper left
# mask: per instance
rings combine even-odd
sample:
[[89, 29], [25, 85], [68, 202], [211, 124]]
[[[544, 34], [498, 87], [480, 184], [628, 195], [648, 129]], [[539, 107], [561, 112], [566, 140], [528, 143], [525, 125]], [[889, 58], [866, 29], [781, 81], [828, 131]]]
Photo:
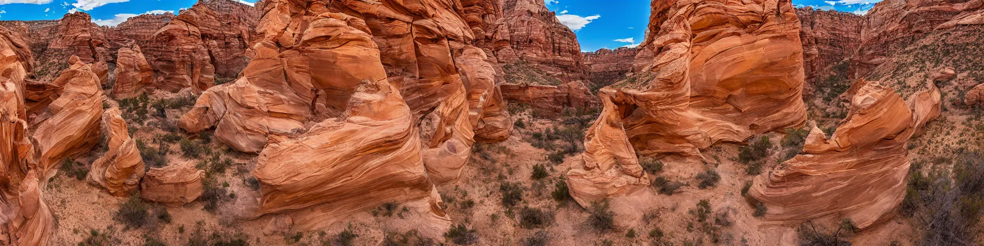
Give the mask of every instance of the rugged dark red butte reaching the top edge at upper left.
[[144, 46], [159, 74], [154, 85], [203, 92], [219, 78], [236, 78], [249, 59], [245, 50], [256, 27], [253, 7], [229, 0], [201, 1], [154, 32]]

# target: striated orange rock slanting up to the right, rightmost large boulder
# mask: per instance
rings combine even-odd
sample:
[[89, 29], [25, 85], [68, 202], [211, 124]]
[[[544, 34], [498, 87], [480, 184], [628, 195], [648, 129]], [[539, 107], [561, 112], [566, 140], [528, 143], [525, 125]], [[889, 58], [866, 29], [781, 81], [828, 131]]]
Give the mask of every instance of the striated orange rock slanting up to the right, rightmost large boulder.
[[814, 127], [803, 154], [755, 178], [748, 194], [769, 208], [766, 219], [837, 215], [864, 229], [894, 215], [905, 196], [905, 145], [940, 115], [940, 92], [929, 82], [906, 103], [891, 88], [862, 80], [842, 97], [850, 112], [830, 139]]

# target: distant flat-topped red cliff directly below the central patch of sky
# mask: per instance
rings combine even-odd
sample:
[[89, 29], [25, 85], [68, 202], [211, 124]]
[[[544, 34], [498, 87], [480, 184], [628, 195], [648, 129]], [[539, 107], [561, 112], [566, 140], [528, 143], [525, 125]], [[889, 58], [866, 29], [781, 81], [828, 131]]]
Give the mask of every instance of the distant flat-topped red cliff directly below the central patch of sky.
[[584, 53], [584, 65], [587, 65], [587, 79], [595, 85], [611, 85], [625, 79], [632, 72], [632, 65], [639, 50], [621, 47], [615, 50], [599, 49]]

